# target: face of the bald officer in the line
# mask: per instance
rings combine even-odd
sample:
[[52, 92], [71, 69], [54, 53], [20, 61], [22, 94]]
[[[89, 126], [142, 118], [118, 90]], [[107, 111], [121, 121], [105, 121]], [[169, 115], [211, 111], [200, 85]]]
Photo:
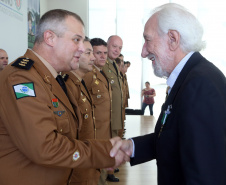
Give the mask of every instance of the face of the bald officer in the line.
[[108, 41], [108, 57], [115, 60], [121, 53], [122, 50], [122, 39], [118, 36], [113, 36]]

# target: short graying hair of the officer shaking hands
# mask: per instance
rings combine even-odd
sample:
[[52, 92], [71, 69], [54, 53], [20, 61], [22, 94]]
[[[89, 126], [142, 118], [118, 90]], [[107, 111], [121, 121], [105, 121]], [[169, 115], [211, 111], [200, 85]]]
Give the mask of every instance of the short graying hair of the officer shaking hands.
[[58, 37], [63, 36], [64, 32], [67, 29], [65, 25], [65, 20], [68, 16], [74, 17], [84, 26], [81, 17], [76, 13], [62, 9], [50, 10], [46, 12], [39, 21], [35, 34], [35, 43], [41, 43], [43, 41], [44, 32], [46, 30], [53, 31]]

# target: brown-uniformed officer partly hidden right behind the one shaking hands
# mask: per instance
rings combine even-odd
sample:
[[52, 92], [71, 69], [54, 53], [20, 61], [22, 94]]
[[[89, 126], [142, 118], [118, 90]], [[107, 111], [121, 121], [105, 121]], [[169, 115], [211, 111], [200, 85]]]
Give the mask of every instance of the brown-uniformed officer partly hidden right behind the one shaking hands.
[[[93, 56], [93, 48], [88, 37], [84, 40], [84, 47], [85, 51], [79, 58], [79, 67], [63, 75], [68, 90], [70, 91], [70, 93], [68, 93], [69, 100], [74, 110], [78, 110], [81, 116], [78, 131], [79, 140], [96, 139], [93, 101], [83, 81], [84, 75], [92, 71], [93, 61], [95, 59]], [[100, 171], [95, 168], [74, 169], [70, 184], [79, 185], [85, 183], [87, 185], [97, 185], [99, 177]]]

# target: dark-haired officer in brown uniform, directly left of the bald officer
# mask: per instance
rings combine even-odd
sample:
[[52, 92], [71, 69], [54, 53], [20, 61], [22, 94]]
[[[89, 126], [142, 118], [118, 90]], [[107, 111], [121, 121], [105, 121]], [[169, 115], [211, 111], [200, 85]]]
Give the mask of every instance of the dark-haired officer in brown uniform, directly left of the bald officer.
[[[95, 105], [96, 138], [110, 139], [111, 85], [102, 71], [107, 60], [107, 43], [100, 38], [93, 38], [90, 43], [93, 46], [93, 54], [96, 59], [94, 61], [93, 70], [85, 75], [84, 81]], [[106, 178], [107, 172], [102, 169], [98, 185], [107, 184]]]

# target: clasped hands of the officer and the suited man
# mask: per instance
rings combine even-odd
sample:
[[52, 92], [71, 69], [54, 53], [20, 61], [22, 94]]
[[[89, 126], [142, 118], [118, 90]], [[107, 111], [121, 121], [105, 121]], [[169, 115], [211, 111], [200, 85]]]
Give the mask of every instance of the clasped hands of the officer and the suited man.
[[109, 170], [112, 170], [130, 161], [130, 157], [133, 153], [133, 142], [131, 140], [122, 140], [119, 137], [111, 138], [110, 142], [113, 146], [110, 151], [110, 156], [115, 157], [115, 166], [109, 168]]

